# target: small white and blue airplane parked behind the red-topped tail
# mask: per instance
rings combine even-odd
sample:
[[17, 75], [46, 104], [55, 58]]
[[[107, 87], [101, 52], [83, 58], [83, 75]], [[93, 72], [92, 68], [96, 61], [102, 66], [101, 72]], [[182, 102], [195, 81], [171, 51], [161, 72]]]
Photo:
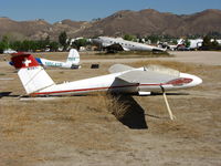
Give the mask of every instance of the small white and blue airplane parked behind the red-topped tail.
[[[66, 62], [60, 62], [60, 61], [52, 61], [46, 59], [40, 59], [35, 58], [35, 60], [39, 62], [42, 66], [55, 66], [55, 68], [65, 68], [65, 69], [80, 69], [80, 54], [75, 49], [71, 49], [69, 56], [66, 59]], [[9, 64], [13, 65], [12, 62], [9, 62]]]

